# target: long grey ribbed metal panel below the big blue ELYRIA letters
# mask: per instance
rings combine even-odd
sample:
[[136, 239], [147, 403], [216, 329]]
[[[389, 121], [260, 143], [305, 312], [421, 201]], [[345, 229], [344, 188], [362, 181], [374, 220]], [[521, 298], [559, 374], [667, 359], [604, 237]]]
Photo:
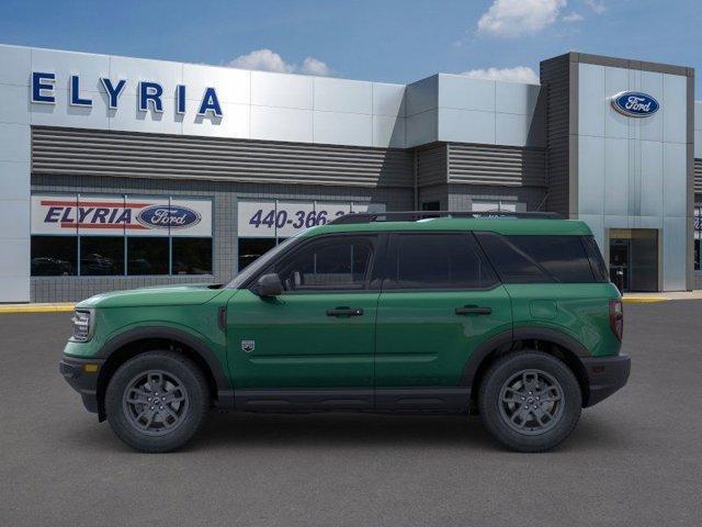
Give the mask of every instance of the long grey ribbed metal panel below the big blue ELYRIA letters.
[[411, 152], [76, 128], [32, 128], [32, 172], [412, 187]]

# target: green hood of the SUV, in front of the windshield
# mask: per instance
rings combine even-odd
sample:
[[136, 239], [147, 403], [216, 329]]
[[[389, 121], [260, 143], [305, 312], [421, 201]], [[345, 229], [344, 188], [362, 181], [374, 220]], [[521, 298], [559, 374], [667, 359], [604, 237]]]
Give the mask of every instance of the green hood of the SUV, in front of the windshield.
[[199, 305], [210, 302], [224, 289], [212, 284], [161, 285], [95, 294], [76, 307], [147, 307], [158, 305]]

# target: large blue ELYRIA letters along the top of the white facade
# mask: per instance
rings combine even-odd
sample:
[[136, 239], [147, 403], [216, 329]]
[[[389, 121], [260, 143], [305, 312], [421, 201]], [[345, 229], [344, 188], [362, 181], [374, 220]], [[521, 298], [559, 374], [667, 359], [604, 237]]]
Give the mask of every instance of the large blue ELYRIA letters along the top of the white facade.
[[[100, 82], [107, 96], [107, 106], [116, 110], [120, 105], [120, 97], [126, 87], [126, 79], [112, 80], [100, 78]], [[47, 71], [32, 71], [31, 96], [32, 102], [39, 104], [56, 104], [56, 74]], [[139, 111], [163, 113], [163, 100], [173, 99], [176, 113], [182, 115], [186, 108], [188, 87], [178, 85], [174, 93], [163, 93], [163, 87], [158, 82], [140, 80], [136, 90], [137, 105]], [[206, 116], [212, 114], [222, 117], [222, 105], [214, 88], [205, 88], [197, 96], [197, 115]], [[78, 75], [71, 75], [68, 83], [68, 103], [71, 106], [92, 108], [93, 101], [86, 93], [81, 92], [81, 79]]]

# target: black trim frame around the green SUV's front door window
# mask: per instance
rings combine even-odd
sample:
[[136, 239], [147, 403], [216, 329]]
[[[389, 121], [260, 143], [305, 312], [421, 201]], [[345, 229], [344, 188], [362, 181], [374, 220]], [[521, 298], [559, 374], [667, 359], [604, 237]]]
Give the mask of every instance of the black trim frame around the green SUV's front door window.
[[302, 240], [301, 244], [297, 244], [295, 247], [291, 247], [291, 250], [284, 253], [280, 256], [275, 261], [272, 261], [265, 269], [263, 269], [260, 273], [252, 278], [251, 282], [249, 282], [248, 287], [256, 283], [256, 281], [262, 277], [271, 272], [274, 266], [278, 264], [286, 265], [292, 258], [295, 258], [301, 251], [307, 249], [310, 245], [319, 244], [322, 242], [330, 240], [340, 240], [343, 238], [356, 238], [367, 244], [370, 248], [370, 259], [369, 259], [369, 268], [365, 271], [365, 276], [363, 277], [363, 282], [359, 283], [359, 287], [352, 288], [304, 288], [296, 291], [283, 291], [283, 295], [287, 294], [324, 294], [324, 293], [359, 293], [359, 292], [367, 292], [367, 291], [378, 291], [377, 289], [371, 289], [371, 277], [373, 276], [373, 269], [375, 267], [375, 262], [377, 261], [377, 253], [378, 253], [378, 236], [377, 233], [333, 233], [333, 234], [324, 234], [320, 236], [312, 236], [308, 239]]

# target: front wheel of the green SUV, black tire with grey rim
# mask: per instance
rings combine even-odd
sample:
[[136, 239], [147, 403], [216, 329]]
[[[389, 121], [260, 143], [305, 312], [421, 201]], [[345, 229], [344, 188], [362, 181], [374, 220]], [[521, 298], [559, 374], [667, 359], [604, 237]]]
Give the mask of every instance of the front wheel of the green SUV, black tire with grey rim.
[[[170, 402], [161, 399], [165, 395]], [[149, 453], [177, 450], [207, 419], [207, 381], [188, 357], [173, 351], [148, 351], [114, 372], [105, 393], [105, 413], [116, 436], [132, 448]]]

